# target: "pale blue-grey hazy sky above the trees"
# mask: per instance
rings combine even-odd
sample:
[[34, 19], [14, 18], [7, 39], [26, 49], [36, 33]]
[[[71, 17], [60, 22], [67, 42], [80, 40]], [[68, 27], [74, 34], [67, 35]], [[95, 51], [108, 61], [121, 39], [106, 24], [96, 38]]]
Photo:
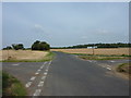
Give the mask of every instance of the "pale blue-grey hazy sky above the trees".
[[3, 2], [2, 47], [128, 42], [128, 2]]

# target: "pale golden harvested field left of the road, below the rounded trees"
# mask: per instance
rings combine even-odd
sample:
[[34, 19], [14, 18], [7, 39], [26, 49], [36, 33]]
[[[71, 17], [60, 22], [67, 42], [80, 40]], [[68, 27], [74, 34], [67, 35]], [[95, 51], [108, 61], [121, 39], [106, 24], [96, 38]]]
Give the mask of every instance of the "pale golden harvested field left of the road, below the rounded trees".
[[49, 52], [47, 51], [32, 51], [32, 50], [1, 50], [0, 51], [0, 61], [4, 60], [41, 60]]

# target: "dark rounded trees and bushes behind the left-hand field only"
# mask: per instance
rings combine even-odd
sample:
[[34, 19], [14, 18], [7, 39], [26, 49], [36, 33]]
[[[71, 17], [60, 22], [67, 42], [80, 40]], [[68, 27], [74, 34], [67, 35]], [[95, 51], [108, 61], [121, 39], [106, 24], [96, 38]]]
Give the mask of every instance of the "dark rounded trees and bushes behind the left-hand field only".
[[32, 50], [49, 50], [50, 49], [50, 45], [47, 44], [46, 41], [39, 41], [36, 40], [31, 48], [24, 48], [23, 44], [12, 44], [12, 46], [7, 46], [5, 48], [3, 48], [3, 50], [8, 50], [8, 49], [14, 49], [14, 50], [25, 50], [25, 49], [32, 49]]

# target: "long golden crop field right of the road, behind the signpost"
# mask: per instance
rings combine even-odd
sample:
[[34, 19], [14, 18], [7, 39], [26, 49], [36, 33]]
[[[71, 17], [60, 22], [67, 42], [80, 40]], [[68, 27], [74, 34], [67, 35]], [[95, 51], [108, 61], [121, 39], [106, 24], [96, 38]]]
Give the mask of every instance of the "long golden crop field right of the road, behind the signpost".
[[129, 50], [131, 48], [97, 48], [97, 49], [87, 49], [87, 48], [82, 48], [82, 49], [51, 49], [51, 51], [61, 51], [61, 52], [67, 52], [67, 53], [85, 53], [85, 54], [115, 54], [115, 56], [130, 56]]

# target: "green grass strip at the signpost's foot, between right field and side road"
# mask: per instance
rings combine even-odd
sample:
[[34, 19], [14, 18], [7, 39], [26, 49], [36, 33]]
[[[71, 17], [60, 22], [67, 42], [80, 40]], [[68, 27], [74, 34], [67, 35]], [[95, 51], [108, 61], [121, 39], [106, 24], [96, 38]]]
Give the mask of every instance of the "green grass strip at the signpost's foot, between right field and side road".
[[76, 54], [80, 59], [83, 60], [117, 60], [117, 59], [129, 59], [131, 56], [105, 56], [105, 54], [84, 54], [84, 53], [71, 53]]

